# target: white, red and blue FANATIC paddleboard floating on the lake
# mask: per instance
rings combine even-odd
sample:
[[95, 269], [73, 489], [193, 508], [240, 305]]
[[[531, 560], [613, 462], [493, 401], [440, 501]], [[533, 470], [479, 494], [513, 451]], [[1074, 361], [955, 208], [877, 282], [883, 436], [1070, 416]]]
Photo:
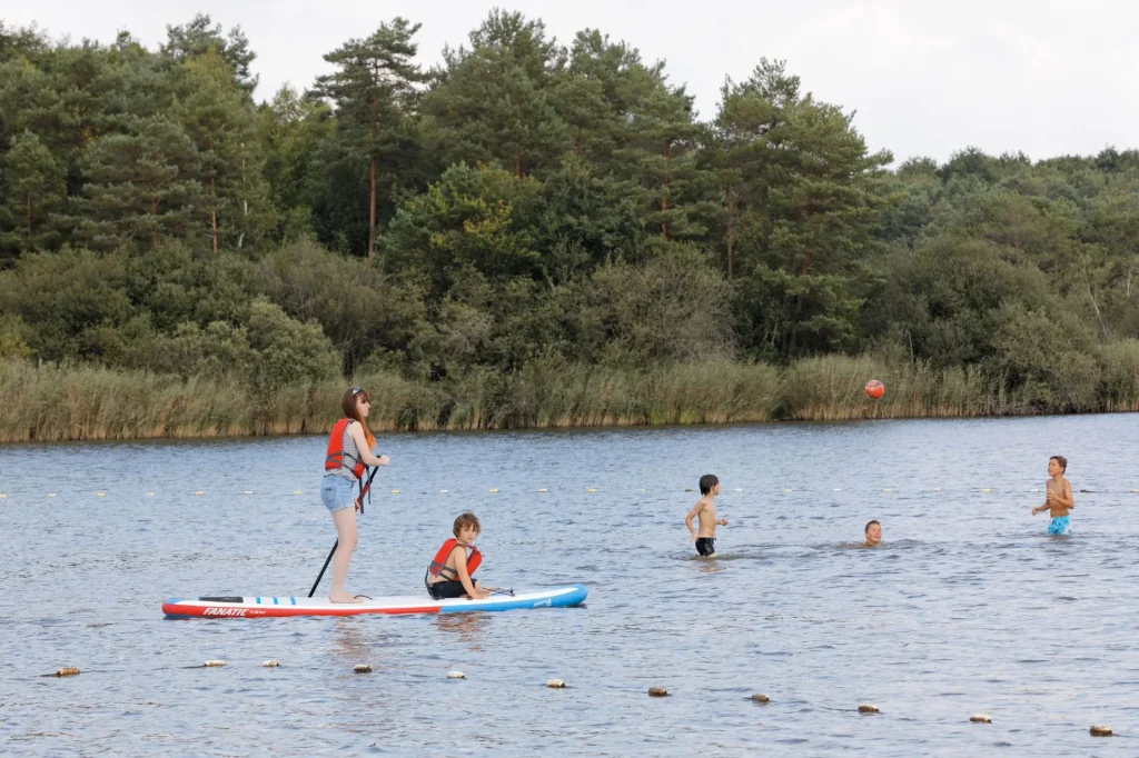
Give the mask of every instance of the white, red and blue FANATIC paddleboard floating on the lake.
[[585, 602], [585, 587], [575, 584], [555, 590], [491, 595], [478, 600], [432, 600], [431, 596], [391, 596], [362, 603], [334, 603], [327, 598], [218, 596], [162, 604], [167, 618], [270, 618], [279, 616], [360, 616], [363, 613], [462, 613], [470, 611], [567, 608]]

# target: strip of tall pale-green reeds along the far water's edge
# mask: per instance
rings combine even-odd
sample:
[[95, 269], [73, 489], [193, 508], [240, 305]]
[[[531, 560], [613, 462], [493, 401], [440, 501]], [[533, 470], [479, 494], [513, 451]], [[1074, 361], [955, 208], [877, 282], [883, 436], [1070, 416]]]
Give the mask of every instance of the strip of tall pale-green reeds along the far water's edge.
[[[710, 363], [628, 371], [534, 364], [514, 374], [473, 372], [443, 382], [395, 373], [353, 378], [374, 398], [376, 431], [729, 423], [740, 421], [964, 418], [1139, 411], [1139, 343], [1118, 343], [1084, 372], [1087, 386], [1009, 389], [980, 370], [934, 370], [870, 356], [825, 356], [784, 370]], [[869, 378], [886, 385], [869, 401]], [[254, 396], [236, 381], [182, 380], [23, 361], [0, 362], [0, 442], [192, 438], [323, 431], [338, 418], [344, 382]], [[1084, 398], [1073, 406], [1070, 398]], [[1091, 401], [1087, 398], [1093, 398]]]

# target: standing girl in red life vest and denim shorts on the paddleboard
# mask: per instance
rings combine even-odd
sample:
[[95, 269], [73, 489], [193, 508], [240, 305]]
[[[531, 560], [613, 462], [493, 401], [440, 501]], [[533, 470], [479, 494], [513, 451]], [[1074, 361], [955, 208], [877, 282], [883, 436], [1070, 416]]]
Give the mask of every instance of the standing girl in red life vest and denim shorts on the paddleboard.
[[376, 438], [363, 421], [371, 411], [368, 393], [350, 387], [341, 398], [341, 407], [344, 418], [336, 422], [328, 436], [325, 479], [320, 485], [320, 499], [333, 514], [337, 538], [333, 555], [333, 588], [328, 599], [334, 603], [359, 603], [363, 595], [350, 595], [344, 591], [344, 579], [357, 544], [355, 512], [360, 510], [360, 501], [352, 489], [363, 476], [364, 467], [387, 465], [388, 458], [372, 454]]

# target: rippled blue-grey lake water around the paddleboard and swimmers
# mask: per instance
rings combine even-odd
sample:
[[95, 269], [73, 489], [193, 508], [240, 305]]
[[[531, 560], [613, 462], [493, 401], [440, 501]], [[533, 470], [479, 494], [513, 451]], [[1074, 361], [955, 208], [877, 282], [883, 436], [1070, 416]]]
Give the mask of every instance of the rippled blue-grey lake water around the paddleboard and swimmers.
[[[349, 590], [423, 593], [473, 509], [485, 582], [587, 604], [167, 620], [170, 596], [308, 593], [325, 439], [0, 447], [0, 753], [1139, 753], [1137, 415], [380, 445]], [[1071, 538], [1029, 512], [1051, 454], [1091, 491]], [[706, 472], [715, 560], [683, 526]], [[844, 546], [871, 518], [885, 544]]]

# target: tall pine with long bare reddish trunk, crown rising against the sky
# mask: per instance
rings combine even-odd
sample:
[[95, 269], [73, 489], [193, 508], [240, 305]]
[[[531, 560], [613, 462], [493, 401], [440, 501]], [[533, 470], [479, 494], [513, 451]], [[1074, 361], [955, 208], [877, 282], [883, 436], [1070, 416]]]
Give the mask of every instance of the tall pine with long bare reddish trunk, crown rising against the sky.
[[394, 18], [362, 40], [349, 40], [325, 60], [338, 67], [317, 80], [317, 91], [333, 101], [347, 153], [368, 160], [368, 258], [376, 250], [376, 200], [378, 184], [392, 188], [410, 171], [416, 145], [411, 116], [424, 81], [411, 63], [417, 46], [411, 41], [419, 24]]

